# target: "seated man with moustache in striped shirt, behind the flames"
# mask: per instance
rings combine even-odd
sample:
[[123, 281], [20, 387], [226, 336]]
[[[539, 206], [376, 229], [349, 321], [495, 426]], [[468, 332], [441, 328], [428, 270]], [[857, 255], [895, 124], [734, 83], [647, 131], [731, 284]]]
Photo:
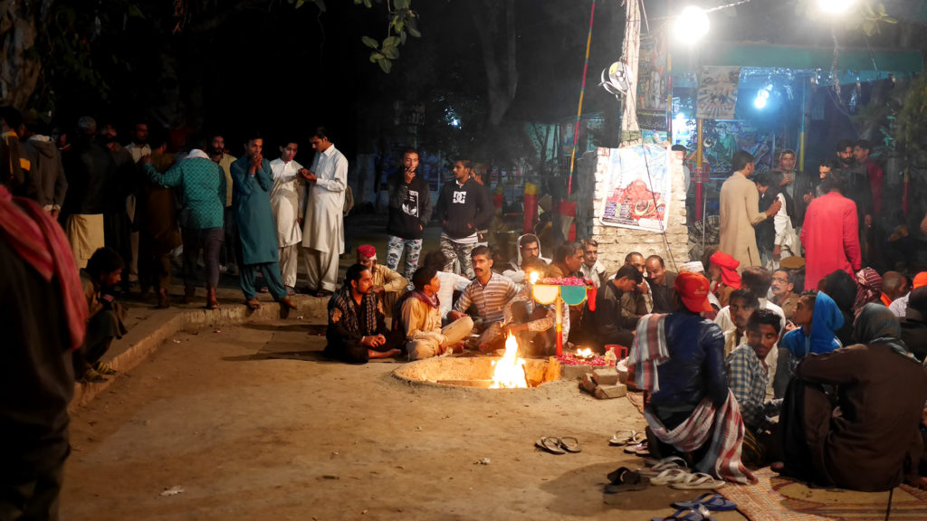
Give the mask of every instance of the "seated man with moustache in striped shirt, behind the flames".
[[448, 316], [459, 320], [466, 316], [471, 304], [476, 305], [474, 329], [481, 333], [478, 348], [489, 352], [502, 347], [502, 318], [505, 304], [514, 299], [518, 289], [512, 279], [492, 271], [492, 254], [489, 248], [477, 246], [470, 253], [476, 278], [466, 286], [464, 293]]

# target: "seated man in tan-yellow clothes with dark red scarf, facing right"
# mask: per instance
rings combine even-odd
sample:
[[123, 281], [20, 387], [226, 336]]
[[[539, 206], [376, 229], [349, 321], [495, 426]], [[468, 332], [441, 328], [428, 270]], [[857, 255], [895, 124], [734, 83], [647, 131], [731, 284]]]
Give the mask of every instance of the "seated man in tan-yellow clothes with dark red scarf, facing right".
[[401, 319], [396, 324], [401, 327], [409, 361], [451, 352], [470, 334], [473, 319], [465, 316], [441, 327], [438, 304], [441, 281], [434, 267], [422, 266], [415, 270], [412, 283], [415, 289], [400, 297]]

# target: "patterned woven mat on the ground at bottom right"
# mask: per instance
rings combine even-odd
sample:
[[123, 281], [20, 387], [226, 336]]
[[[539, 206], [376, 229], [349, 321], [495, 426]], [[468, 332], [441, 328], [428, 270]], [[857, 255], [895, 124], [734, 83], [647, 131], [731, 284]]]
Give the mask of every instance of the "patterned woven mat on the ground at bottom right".
[[[629, 393], [630, 395], [630, 393]], [[756, 471], [756, 485], [728, 484], [717, 491], [752, 521], [805, 521], [841, 519], [881, 521], [888, 506], [888, 492], [855, 492], [843, 489], [808, 489], [763, 468]], [[927, 519], [927, 492], [902, 485], [895, 489], [890, 519]]]

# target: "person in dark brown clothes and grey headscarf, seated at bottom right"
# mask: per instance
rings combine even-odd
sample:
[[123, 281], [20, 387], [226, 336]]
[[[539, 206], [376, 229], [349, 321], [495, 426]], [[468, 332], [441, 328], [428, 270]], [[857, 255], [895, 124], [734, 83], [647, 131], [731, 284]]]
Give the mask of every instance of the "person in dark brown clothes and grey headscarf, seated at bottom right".
[[[900, 331], [888, 308], [870, 303], [854, 324], [860, 344], [798, 365], [781, 413], [783, 474], [863, 491], [919, 480], [927, 369]], [[836, 386], [840, 413], [823, 385]]]

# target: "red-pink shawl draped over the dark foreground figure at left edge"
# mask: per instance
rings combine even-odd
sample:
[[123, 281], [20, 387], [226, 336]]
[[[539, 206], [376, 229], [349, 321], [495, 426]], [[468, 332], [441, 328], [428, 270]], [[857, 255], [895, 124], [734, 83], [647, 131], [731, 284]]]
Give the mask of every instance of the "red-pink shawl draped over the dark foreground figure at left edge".
[[61, 227], [38, 204], [12, 197], [6, 186], [0, 186], [0, 235], [45, 282], [53, 283], [54, 279], [61, 287], [70, 349], [80, 348], [89, 311], [81, 276]]

